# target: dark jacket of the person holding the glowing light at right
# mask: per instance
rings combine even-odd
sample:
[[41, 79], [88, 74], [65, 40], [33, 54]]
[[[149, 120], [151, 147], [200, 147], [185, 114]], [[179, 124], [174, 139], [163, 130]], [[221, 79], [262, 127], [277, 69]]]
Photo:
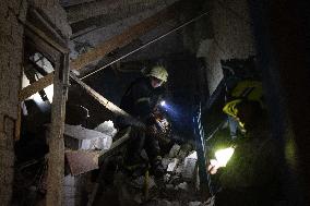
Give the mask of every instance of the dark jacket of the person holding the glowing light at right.
[[[219, 177], [222, 205], [274, 205], [279, 195], [279, 152], [261, 122], [237, 142], [237, 148]], [[247, 124], [246, 124], [247, 125]], [[231, 197], [231, 199], [229, 199]]]

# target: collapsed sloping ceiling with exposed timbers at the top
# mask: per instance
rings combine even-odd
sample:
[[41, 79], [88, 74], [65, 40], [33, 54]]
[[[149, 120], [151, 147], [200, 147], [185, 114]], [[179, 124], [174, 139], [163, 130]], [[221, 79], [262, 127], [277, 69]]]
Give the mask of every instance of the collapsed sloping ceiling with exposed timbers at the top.
[[[62, 0], [72, 28], [71, 69], [81, 76], [128, 54], [194, 17], [196, 2], [179, 0]], [[194, 12], [193, 12], [194, 11]], [[194, 13], [194, 14], [193, 14]], [[158, 59], [184, 50], [181, 32], [122, 59]]]

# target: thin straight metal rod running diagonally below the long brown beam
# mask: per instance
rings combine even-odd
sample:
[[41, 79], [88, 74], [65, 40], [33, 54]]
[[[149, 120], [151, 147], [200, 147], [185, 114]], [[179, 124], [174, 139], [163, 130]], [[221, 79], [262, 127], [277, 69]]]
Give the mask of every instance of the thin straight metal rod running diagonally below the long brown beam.
[[157, 40], [159, 40], [159, 39], [162, 39], [162, 38], [168, 36], [169, 34], [171, 34], [171, 33], [174, 33], [174, 32], [176, 32], [176, 31], [178, 31], [178, 29], [180, 29], [180, 28], [182, 28], [182, 27], [184, 27], [184, 26], [187, 26], [187, 25], [189, 25], [189, 24], [191, 24], [192, 22], [195, 22], [195, 21], [200, 20], [202, 16], [206, 15], [207, 13], [208, 13], [208, 12], [204, 12], [204, 13], [200, 14], [199, 16], [191, 19], [190, 21], [188, 21], [188, 22], [186, 22], [186, 23], [179, 25], [178, 27], [176, 27], [176, 28], [174, 28], [174, 29], [171, 29], [171, 31], [165, 33], [164, 35], [162, 35], [162, 36], [159, 36], [159, 37], [156, 37], [156, 38], [150, 40], [148, 43], [142, 45], [141, 47], [139, 47], [139, 48], [136, 48], [136, 49], [134, 49], [134, 50], [128, 52], [127, 54], [124, 54], [124, 56], [122, 56], [122, 57], [120, 57], [120, 58], [118, 58], [118, 59], [111, 61], [110, 63], [108, 63], [108, 64], [106, 64], [106, 65], [104, 65], [104, 66], [102, 66], [102, 68], [95, 70], [94, 72], [91, 72], [90, 74], [86, 74], [85, 76], [81, 77], [80, 80], [84, 80], [84, 78], [86, 78], [86, 77], [88, 77], [88, 76], [91, 76], [91, 75], [93, 75], [93, 74], [95, 74], [95, 73], [97, 73], [97, 72], [99, 72], [99, 71], [102, 71], [102, 70], [104, 70], [104, 69], [106, 69], [107, 66], [109, 66], [109, 65], [111, 65], [111, 64], [114, 64], [114, 63], [116, 63], [116, 62], [118, 62], [118, 61], [120, 61], [120, 60], [127, 58], [128, 56], [131, 56], [132, 53], [135, 53], [136, 51], [140, 51], [141, 49], [147, 47], [148, 45], [152, 45], [153, 43], [156, 43]]

